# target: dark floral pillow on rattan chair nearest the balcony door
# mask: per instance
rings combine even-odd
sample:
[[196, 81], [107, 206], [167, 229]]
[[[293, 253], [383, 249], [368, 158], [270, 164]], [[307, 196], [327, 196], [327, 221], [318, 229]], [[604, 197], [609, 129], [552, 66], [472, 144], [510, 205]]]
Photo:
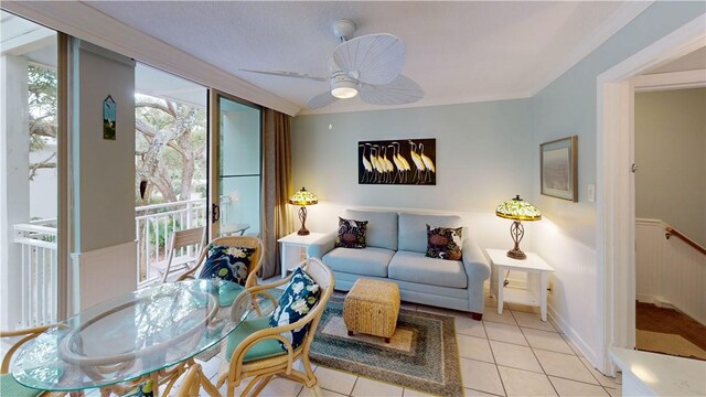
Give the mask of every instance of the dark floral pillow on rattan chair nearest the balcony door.
[[199, 278], [226, 280], [245, 286], [253, 254], [255, 248], [210, 246], [206, 262]]

